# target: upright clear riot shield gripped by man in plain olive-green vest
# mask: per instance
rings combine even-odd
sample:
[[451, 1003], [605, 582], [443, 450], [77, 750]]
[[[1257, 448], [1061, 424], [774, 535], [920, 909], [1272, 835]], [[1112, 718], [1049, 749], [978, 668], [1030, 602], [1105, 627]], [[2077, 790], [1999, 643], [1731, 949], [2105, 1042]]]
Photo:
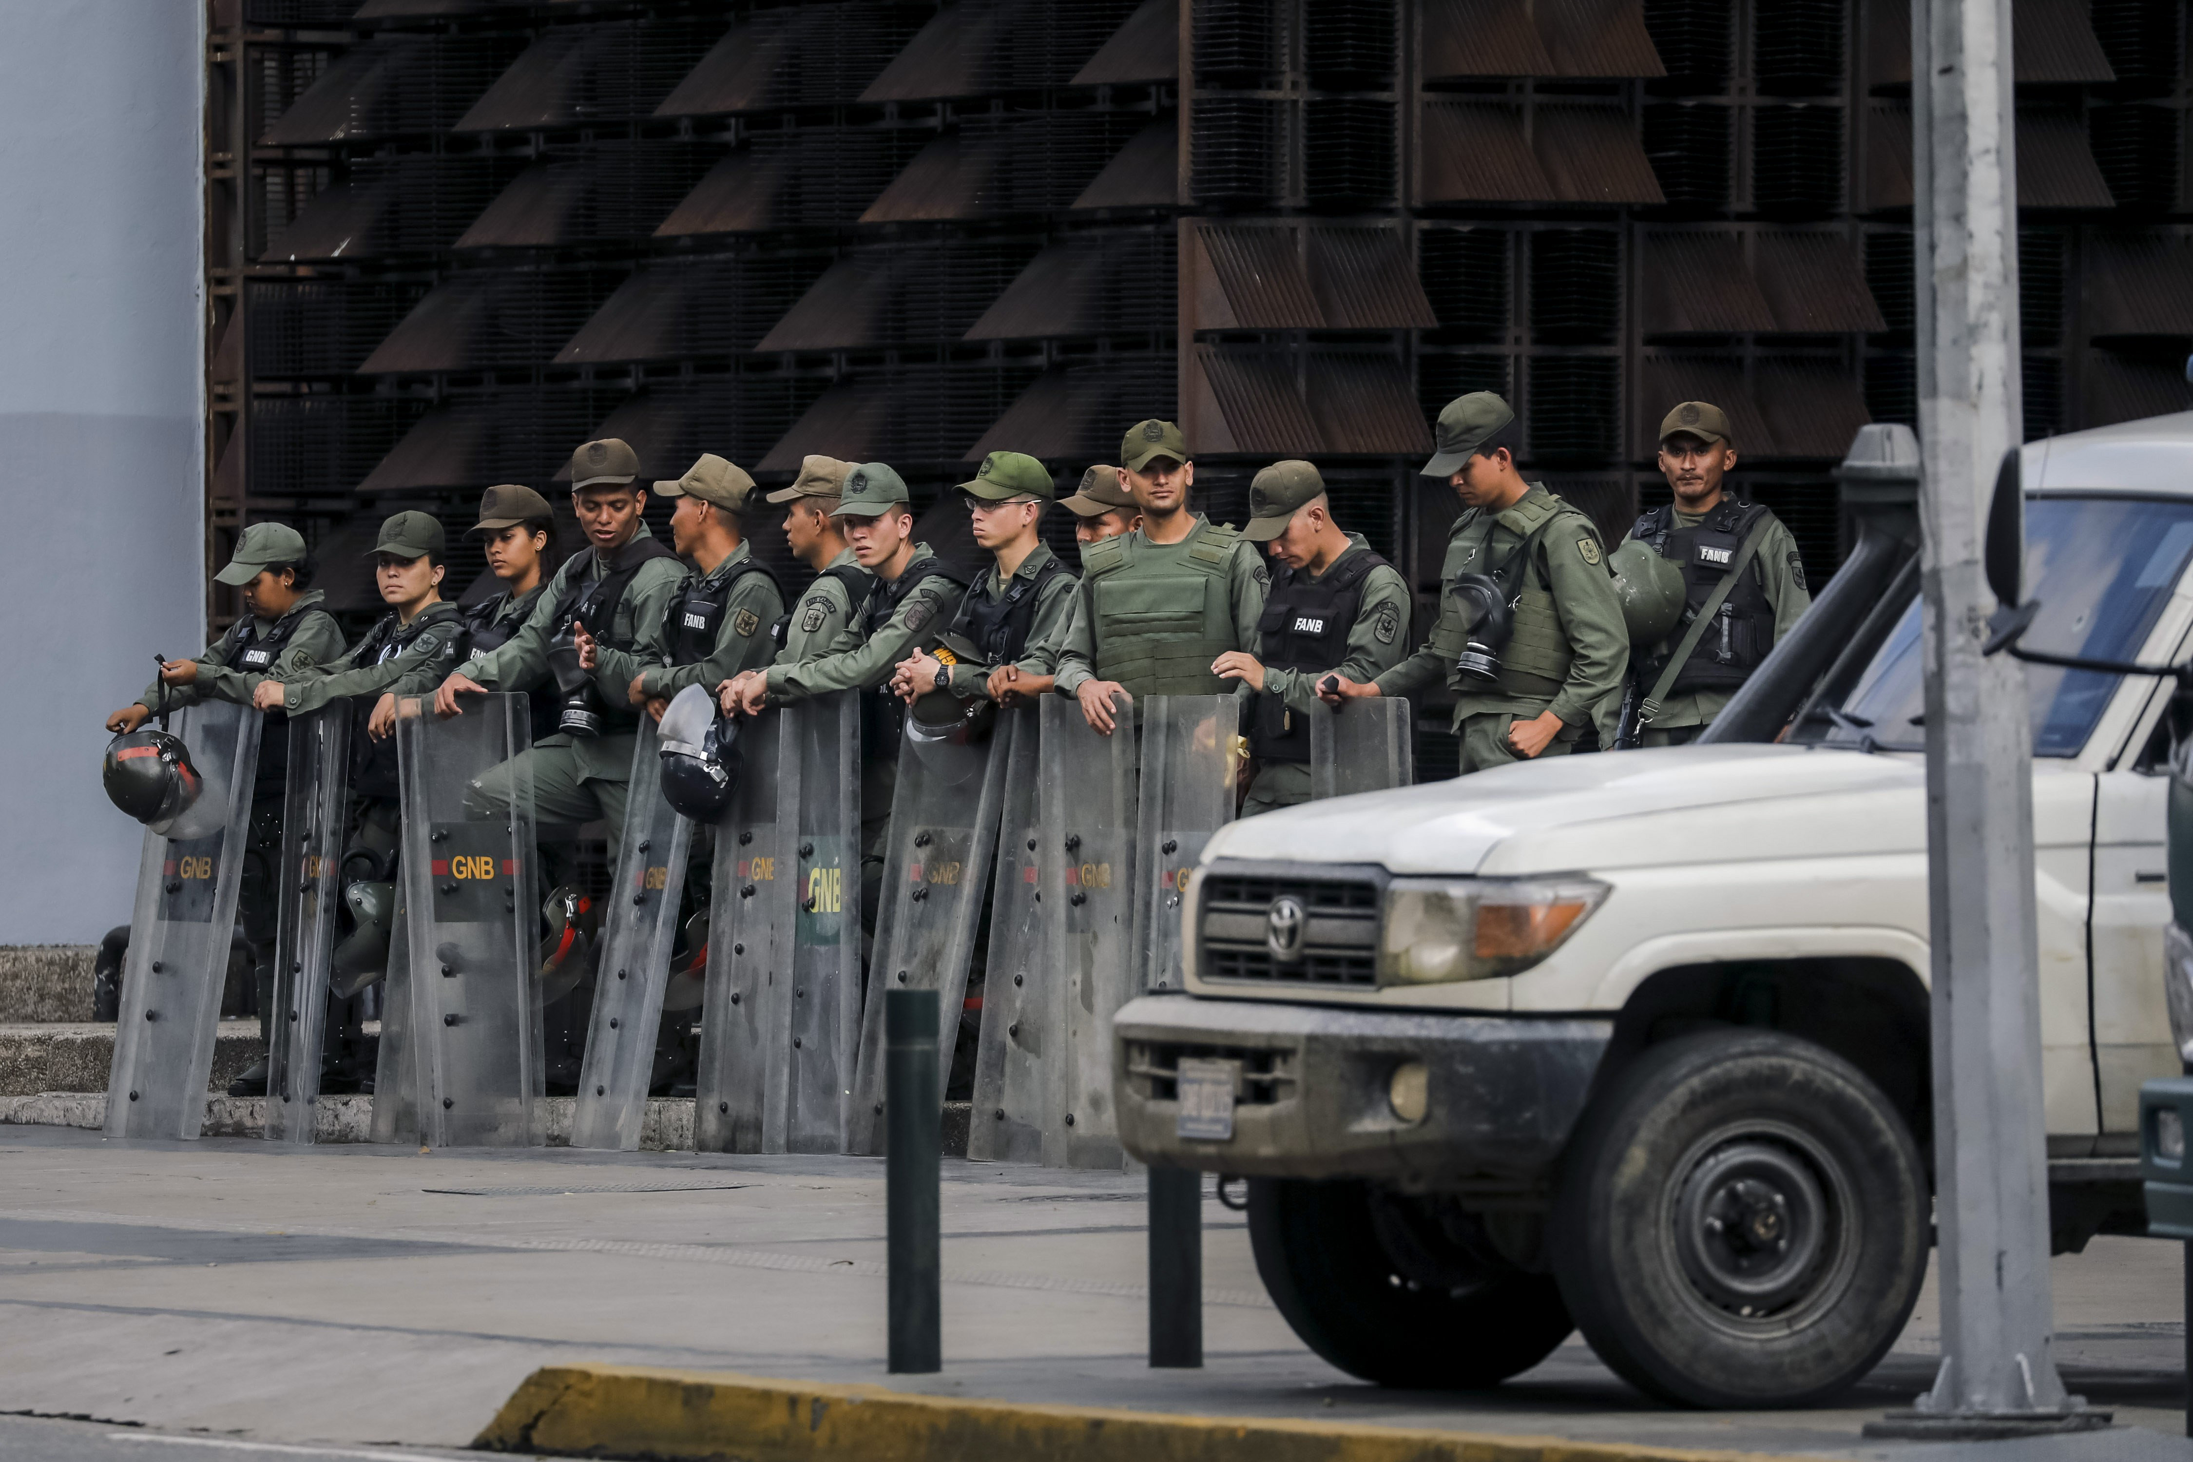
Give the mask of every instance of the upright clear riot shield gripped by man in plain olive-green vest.
[[1007, 1028], [1007, 1039], [1057, 1048], [1053, 1061], [1044, 1048], [1033, 1052], [1046, 1074], [1035, 1122], [1044, 1166], [1118, 1168], [1112, 1015], [1134, 993], [1134, 715], [1121, 706], [1118, 730], [1103, 736], [1079, 704], [1048, 695], [1042, 728], [1035, 892], [1048, 958], [1033, 1028]]

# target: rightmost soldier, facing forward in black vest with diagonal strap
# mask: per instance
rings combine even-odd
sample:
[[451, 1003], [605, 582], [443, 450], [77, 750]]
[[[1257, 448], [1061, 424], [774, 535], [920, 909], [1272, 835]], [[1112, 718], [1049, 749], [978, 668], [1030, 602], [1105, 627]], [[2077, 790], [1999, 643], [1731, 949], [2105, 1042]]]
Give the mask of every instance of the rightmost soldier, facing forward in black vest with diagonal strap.
[[[1629, 537], [1649, 544], [1682, 570], [1686, 614], [1675, 633], [1632, 666], [1640, 701], [1651, 699], [1651, 690], [1667, 679], [1667, 693], [1638, 710], [1645, 745], [1695, 741], [1774, 642], [1811, 607], [1805, 559], [1789, 528], [1765, 504], [1741, 502], [1722, 491], [1722, 480], [1735, 465], [1737, 441], [1722, 408], [1680, 401], [1669, 410], [1660, 423], [1660, 473], [1675, 500], [1640, 517]], [[1737, 566], [1735, 559], [1743, 557], [1754, 533], [1761, 533], [1759, 544]], [[1715, 623], [1675, 664], [1684, 629], [1730, 568], [1739, 574], [1722, 598]]]

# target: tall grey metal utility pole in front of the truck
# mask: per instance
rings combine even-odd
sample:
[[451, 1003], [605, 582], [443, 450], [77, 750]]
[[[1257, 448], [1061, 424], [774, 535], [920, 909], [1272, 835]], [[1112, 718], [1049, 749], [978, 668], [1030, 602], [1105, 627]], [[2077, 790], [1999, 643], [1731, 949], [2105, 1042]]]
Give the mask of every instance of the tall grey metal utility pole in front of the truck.
[[1919, 513], [1941, 1374], [1868, 1436], [2105, 1423], [2050, 1350], [2048, 1153], [2024, 671], [1985, 658], [1987, 502], [2020, 443], [2011, 0], [1912, 4]]

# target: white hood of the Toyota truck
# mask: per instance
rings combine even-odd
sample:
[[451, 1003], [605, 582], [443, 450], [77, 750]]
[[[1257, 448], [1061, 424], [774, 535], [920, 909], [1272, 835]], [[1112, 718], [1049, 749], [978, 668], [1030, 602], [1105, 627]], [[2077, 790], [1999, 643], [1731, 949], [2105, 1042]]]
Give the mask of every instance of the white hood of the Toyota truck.
[[1925, 763], [1803, 745], [1557, 756], [1232, 822], [1204, 857], [1553, 872], [1925, 848]]

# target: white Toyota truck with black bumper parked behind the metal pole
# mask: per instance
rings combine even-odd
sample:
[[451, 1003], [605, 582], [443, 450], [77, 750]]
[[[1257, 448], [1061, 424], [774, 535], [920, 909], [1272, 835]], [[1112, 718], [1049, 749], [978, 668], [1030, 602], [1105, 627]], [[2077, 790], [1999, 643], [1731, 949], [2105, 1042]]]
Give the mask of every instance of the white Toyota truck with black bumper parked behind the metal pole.
[[[2026, 644], [2182, 658], [2193, 412], [2033, 443], [2024, 482]], [[1121, 1138], [1248, 1177], [1257, 1267], [1318, 1355], [1491, 1385], [1581, 1328], [1656, 1396], [1796, 1405], [1893, 1344], [1932, 1120], [1917, 572], [1890, 596], [1855, 684], [1776, 745], [1564, 756], [1211, 839], [1186, 997], [1114, 1021]], [[2026, 679], [2064, 1249], [2140, 1232], [2140, 1083], [2178, 1074], [2169, 684]]]

